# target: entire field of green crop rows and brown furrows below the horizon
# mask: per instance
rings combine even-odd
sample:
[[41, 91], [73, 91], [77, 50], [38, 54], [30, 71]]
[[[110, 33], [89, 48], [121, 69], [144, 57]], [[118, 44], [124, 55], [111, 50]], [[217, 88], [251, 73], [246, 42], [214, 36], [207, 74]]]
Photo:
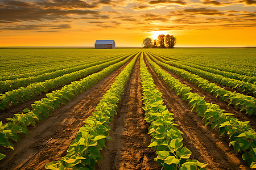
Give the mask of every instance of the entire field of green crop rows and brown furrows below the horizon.
[[0, 48], [0, 169], [254, 169], [256, 49]]

